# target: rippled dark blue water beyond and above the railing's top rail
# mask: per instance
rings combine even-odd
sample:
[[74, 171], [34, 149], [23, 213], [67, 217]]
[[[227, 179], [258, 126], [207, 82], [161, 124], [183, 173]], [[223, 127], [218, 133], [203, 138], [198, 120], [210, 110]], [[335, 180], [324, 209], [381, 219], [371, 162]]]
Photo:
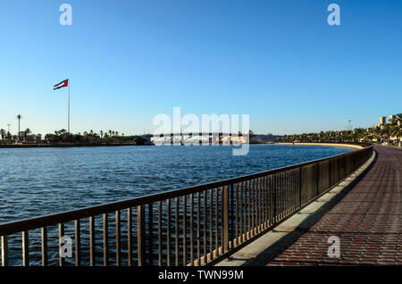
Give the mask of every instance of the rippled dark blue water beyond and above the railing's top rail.
[[0, 223], [267, 171], [349, 150], [326, 146], [0, 149]]

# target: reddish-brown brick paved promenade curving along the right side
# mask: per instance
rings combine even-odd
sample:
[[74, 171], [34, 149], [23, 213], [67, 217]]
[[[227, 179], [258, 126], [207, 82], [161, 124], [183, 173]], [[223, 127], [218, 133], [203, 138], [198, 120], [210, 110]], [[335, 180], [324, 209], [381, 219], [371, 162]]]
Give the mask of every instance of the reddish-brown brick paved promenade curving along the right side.
[[[374, 146], [378, 159], [354, 188], [267, 265], [402, 264], [402, 151]], [[330, 236], [340, 257], [327, 255]]]

